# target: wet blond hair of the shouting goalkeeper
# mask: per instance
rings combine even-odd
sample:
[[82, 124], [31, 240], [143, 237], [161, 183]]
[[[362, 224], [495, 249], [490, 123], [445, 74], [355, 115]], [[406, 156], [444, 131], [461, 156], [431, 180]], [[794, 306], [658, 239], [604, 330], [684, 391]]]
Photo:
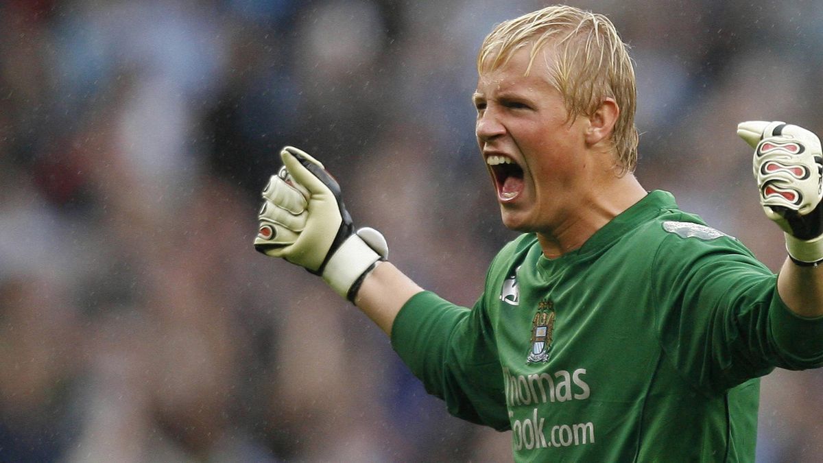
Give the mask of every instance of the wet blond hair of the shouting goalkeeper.
[[531, 46], [526, 74], [544, 45], [551, 44], [555, 63], [549, 83], [565, 101], [570, 120], [593, 115], [608, 97], [620, 108], [611, 143], [621, 175], [637, 166], [635, 70], [615, 26], [606, 16], [565, 5], [546, 7], [495, 26], [477, 54], [477, 72], [491, 72]]

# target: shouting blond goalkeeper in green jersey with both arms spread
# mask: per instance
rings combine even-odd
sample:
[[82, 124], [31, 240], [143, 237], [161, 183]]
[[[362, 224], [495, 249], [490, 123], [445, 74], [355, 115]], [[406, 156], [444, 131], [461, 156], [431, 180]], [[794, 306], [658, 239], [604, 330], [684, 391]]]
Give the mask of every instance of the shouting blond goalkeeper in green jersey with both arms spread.
[[[504, 225], [475, 306], [418, 287], [294, 147], [254, 245], [320, 275], [451, 414], [512, 430], [517, 461], [753, 461], [759, 380], [823, 365], [821, 143], [744, 122], [779, 274], [635, 179], [635, 76], [605, 17], [555, 6], [481, 45], [477, 143]], [[775, 244], [777, 246], [777, 244]]]

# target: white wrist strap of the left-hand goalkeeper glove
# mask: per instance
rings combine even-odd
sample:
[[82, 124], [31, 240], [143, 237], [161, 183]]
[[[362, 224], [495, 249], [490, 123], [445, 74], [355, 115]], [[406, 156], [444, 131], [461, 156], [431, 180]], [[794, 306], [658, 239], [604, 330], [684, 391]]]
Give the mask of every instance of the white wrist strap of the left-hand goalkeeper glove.
[[382, 257], [360, 236], [353, 234], [343, 241], [323, 269], [323, 280], [341, 297], [354, 301], [365, 275]]

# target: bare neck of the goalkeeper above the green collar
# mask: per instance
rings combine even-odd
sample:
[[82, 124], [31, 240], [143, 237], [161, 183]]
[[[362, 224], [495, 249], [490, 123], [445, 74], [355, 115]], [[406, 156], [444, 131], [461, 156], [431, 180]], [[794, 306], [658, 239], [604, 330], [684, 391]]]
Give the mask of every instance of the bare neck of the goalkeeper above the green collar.
[[595, 189], [571, 205], [564, 222], [547, 232], [537, 232], [543, 255], [556, 259], [583, 246], [597, 230], [646, 195], [635, 175], [627, 174]]

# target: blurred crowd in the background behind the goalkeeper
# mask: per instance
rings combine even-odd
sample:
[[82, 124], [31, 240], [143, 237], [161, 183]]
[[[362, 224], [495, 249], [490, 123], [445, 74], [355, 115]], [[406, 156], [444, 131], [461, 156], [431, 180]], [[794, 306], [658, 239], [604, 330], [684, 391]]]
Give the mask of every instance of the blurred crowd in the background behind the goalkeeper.
[[[823, 133], [823, 2], [574, 1], [631, 45], [637, 175], [775, 271], [737, 122]], [[500, 225], [474, 61], [545, 2], [0, 2], [0, 461], [510, 461], [384, 334], [257, 254], [284, 144], [471, 306]], [[823, 459], [823, 372], [763, 381], [758, 461]]]

